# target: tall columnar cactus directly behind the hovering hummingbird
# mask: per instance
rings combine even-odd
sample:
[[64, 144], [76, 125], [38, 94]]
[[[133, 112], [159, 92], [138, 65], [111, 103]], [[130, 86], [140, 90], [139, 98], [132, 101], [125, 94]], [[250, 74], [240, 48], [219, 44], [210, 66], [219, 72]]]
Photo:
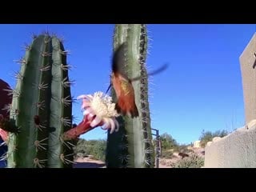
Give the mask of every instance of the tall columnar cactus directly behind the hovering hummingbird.
[[[114, 29], [114, 50], [126, 42], [126, 72], [129, 78], [142, 77], [132, 82], [135, 103], [139, 117], [118, 118], [118, 132], [108, 134], [106, 147], [107, 167], [154, 167], [154, 147], [150, 129], [148, 102], [148, 78], [145, 67], [147, 34], [146, 26], [140, 24], [119, 24]], [[114, 89], [112, 97], [116, 100]]]

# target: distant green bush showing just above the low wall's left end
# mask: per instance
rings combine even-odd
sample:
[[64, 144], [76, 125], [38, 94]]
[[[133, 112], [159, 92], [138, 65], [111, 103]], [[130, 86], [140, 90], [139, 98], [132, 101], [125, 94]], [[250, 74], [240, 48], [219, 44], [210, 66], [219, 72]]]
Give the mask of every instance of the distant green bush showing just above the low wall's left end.
[[199, 138], [200, 145], [202, 147], [205, 147], [207, 142], [211, 142], [213, 140], [213, 138], [215, 138], [215, 137], [223, 138], [227, 134], [229, 134], [227, 130], [217, 130], [215, 132], [202, 130], [202, 134]]

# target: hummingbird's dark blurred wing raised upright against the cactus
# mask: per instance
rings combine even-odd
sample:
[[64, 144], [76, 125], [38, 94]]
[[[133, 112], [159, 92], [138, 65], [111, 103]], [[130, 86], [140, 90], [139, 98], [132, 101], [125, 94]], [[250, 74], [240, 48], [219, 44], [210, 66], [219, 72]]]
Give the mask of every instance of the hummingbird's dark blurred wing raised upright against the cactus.
[[125, 66], [126, 66], [126, 43], [123, 42], [120, 46], [118, 46], [117, 50], [114, 51], [114, 55], [112, 58], [112, 71], [114, 74], [121, 74], [122, 78], [125, 78], [126, 81], [129, 81], [129, 78], [126, 74]]

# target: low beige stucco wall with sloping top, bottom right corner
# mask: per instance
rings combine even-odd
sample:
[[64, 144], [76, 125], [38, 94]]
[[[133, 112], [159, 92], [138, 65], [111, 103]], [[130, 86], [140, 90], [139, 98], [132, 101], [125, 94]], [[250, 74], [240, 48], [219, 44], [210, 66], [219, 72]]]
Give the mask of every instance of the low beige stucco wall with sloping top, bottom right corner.
[[209, 142], [205, 168], [256, 168], [256, 120], [224, 138]]

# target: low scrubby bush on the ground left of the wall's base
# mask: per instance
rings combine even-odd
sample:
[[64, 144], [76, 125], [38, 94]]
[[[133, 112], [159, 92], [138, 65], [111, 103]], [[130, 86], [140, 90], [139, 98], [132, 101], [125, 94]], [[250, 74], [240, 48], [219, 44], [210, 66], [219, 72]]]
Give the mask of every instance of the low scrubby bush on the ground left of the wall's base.
[[173, 168], [201, 168], [202, 166], [204, 166], [204, 158], [197, 154], [192, 154], [172, 164]]

